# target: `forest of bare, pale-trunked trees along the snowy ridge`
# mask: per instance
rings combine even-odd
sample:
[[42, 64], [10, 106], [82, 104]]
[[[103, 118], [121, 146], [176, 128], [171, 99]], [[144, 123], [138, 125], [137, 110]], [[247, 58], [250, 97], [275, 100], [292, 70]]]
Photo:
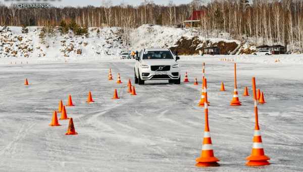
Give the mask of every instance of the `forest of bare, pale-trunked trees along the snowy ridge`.
[[[201, 34], [216, 36], [228, 32], [231, 38], [247, 38], [262, 44], [291, 45], [303, 49], [302, 0], [213, 0], [208, 4], [194, 0], [189, 4], [156, 5], [143, 1], [141, 5], [120, 4], [111, 0], [100, 1], [100, 7], [64, 7], [48, 9], [20, 9], [0, 5], [0, 25], [10, 26], [59, 26], [61, 21], [76, 22], [80, 26], [119, 26], [124, 30], [142, 24], [184, 24], [193, 10], [201, 10]], [[215, 35], [214, 35], [215, 33]], [[251, 40], [250, 40], [251, 41]]]

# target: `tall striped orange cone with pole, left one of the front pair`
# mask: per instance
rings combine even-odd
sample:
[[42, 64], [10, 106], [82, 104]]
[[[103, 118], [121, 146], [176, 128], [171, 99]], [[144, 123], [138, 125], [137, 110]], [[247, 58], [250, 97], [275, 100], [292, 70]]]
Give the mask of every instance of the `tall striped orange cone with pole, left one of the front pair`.
[[208, 104], [207, 104], [207, 92], [205, 93], [205, 129], [204, 129], [204, 138], [203, 138], [203, 146], [202, 152], [200, 157], [196, 158], [196, 166], [205, 167], [205, 166], [219, 166], [218, 158], [215, 157], [213, 146], [212, 146], [212, 139], [210, 134], [210, 127], [208, 121]]

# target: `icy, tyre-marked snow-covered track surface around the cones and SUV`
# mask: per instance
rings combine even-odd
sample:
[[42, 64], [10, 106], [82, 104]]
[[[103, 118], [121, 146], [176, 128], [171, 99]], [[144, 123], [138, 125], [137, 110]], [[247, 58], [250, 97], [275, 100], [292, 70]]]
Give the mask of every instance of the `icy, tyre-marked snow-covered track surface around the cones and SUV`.
[[[182, 58], [182, 57], [181, 57]], [[201, 66], [206, 62], [209, 119], [219, 167], [197, 168], [201, 152], [204, 109], [198, 107]], [[37, 63], [0, 66], [0, 171], [303, 171], [303, 68], [301, 65], [238, 63], [242, 106], [231, 107], [233, 63], [212, 58], [180, 60], [182, 79], [135, 85], [134, 60], [82, 63]], [[114, 81], [108, 81], [112, 68]], [[116, 84], [117, 73], [123, 84]], [[199, 85], [193, 85], [194, 76]], [[263, 145], [271, 165], [245, 166], [254, 134], [251, 77], [265, 92], [259, 105]], [[29, 86], [25, 87], [24, 78]], [[221, 81], [226, 92], [219, 92]], [[113, 100], [114, 89], [121, 99]], [[87, 104], [91, 91], [94, 103]], [[50, 127], [53, 110], [71, 94], [67, 107], [78, 135], [66, 136], [68, 120]], [[60, 113], [58, 114], [60, 116]]]

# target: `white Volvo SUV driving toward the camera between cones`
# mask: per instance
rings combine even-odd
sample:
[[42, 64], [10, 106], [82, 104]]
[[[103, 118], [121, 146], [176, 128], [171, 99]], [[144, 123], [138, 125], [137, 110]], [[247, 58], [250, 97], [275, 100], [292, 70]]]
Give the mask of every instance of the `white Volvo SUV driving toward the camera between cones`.
[[134, 67], [135, 83], [144, 84], [145, 80], [169, 80], [180, 84], [180, 68], [169, 49], [143, 49], [136, 57]]

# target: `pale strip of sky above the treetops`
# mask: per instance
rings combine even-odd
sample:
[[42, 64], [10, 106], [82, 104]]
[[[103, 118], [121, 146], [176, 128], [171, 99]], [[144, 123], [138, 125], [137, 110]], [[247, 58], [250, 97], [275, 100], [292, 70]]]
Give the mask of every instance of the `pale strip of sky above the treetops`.
[[[188, 4], [191, 0], [172, 0], [174, 4]], [[102, 5], [102, 0], [0, 0], [5, 5], [10, 5], [11, 3], [48, 3], [57, 7], [64, 6], [87, 6], [92, 5], [99, 7]], [[112, 0], [113, 5], [119, 5], [122, 2], [129, 5], [140, 5], [144, 0]], [[154, 0], [155, 4], [167, 5], [169, 0]]]

